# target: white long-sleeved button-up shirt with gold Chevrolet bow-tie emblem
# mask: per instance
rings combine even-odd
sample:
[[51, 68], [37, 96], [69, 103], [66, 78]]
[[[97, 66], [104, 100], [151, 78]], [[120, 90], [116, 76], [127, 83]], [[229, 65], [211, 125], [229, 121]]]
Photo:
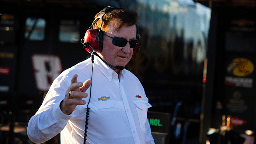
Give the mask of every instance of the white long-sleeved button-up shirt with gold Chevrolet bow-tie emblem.
[[[87, 144], [154, 144], [147, 110], [151, 107], [142, 84], [128, 70], [118, 74], [94, 56], [92, 95]], [[27, 133], [30, 140], [42, 143], [61, 132], [62, 144], [82, 144], [87, 104], [78, 105], [72, 114], [60, 110], [60, 102], [71, 84], [74, 74], [78, 82], [91, 79], [92, 62], [89, 59], [65, 70], [48, 91], [42, 106], [30, 119]]]

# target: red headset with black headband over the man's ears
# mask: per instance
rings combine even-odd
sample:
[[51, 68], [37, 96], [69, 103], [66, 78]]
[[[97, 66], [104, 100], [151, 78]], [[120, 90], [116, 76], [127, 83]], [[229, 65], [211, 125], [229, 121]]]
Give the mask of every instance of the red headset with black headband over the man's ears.
[[[103, 34], [100, 30], [102, 27], [102, 18], [106, 13], [112, 12], [113, 10], [116, 10], [116, 9], [124, 9], [124, 8], [108, 6], [108, 7], [104, 8], [103, 10], [101, 10], [98, 18], [96, 18], [92, 22], [92, 26], [90, 26], [91, 29], [89, 28], [84, 35], [84, 42], [82, 42], [82, 40], [81, 40], [81, 42], [83, 43], [83, 47], [87, 52], [89, 52], [89, 53], [92, 53], [93, 51], [102, 52]], [[98, 20], [101, 20], [100, 29], [92, 29], [93, 25]], [[140, 50], [140, 44], [141, 44], [140, 34], [138, 34], [138, 33], [136, 34], [136, 39], [138, 40], [138, 42], [135, 45], [135, 47], [133, 48], [133, 54], [136, 54]]]

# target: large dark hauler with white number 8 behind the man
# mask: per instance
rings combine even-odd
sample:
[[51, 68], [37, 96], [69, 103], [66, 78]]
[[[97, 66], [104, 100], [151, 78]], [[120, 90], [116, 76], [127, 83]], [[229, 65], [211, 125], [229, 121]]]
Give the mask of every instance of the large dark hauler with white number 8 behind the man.
[[106, 6], [138, 12], [142, 45], [125, 68], [149, 111], [170, 114], [166, 142], [199, 142], [211, 10], [192, 0], [0, 0], [0, 107], [10, 123], [1, 140], [11, 143], [15, 122], [28, 122], [54, 78], [90, 56], [80, 39]]

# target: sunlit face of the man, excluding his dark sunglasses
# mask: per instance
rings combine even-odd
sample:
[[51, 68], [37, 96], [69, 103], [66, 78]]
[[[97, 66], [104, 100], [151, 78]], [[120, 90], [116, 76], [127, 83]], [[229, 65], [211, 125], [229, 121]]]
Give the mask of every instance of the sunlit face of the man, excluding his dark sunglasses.
[[[133, 26], [124, 25], [116, 31], [114, 25], [110, 24], [109, 29], [104, 32], [104, 34], [111, 37], [117, 36], [119, 38], [124, 38], [128, 41], [136, 40], [136, 26], [135, 24]], [[126, 66], [132, 58], [133, 48], [130, 48], [129, 42], [127, 42], [124, 47], [115, 46], [112, 44], [112, 38], [106, 35], [103, 35], [102, 58], [111, 65]], [[112, 69], [116, 70], [115, 68]]]

